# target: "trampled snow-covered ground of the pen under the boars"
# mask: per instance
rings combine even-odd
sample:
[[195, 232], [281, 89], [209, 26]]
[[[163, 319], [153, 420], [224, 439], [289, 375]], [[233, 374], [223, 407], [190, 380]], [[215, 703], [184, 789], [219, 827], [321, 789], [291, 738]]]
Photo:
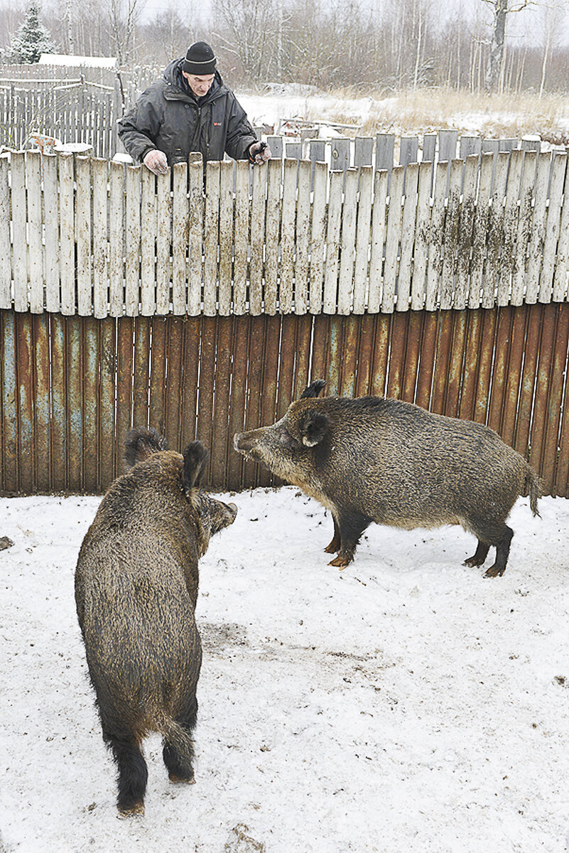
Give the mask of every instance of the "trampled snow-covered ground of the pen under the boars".
[[330, 515], [242, 492], [200, 563], [195, 786], [147, 740], [119, 820], [73, 572], [97, 497], [0, 499], [3, 853], [562, 853], [569, 844], [569, 502], [514, 507], [502, 578], [458, 528], [372, 525], [327, 566]]

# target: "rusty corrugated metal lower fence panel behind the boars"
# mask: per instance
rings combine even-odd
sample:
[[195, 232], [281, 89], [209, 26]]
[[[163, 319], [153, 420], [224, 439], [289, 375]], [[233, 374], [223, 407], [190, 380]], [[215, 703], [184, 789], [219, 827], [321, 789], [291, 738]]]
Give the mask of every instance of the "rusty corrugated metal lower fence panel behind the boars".
[[233, 433], [307, 382], [485, 422], [569, 496], [569, 303], [361, 316], [94, 317], [0, 311], [3, 495], [99, 493], [132, 426], [200, 438], [207, 482], [272, 485]]

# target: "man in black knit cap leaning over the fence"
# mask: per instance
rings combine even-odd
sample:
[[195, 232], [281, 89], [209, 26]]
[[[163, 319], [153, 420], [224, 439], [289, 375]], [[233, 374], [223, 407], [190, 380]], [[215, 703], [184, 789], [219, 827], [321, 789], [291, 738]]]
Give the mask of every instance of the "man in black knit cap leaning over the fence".
[[162, 175], [174, 163], [186, 163], [191, 151], [206, 160], [262, 165], [271, 156], [259, 142], [243, 107], [216, 70], [209, 44], [196, 42], [186, 56], [170, 62], [162, 79], [142, 93], [118, 120], [118, 136], [133, 160]]

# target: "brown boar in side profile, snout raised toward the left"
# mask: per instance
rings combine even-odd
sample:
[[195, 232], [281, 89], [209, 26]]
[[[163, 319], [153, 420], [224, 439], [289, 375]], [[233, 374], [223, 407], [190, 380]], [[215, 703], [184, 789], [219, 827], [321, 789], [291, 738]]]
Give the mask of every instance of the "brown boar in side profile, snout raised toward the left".
[[465, 566], [503, 575], [513, 531], [505, 523], [520, 495], [537, 514], [539, 480], [496, 432], [474, 421], [434, 415], [384, 397], [324, 397], [313, 382], [270, 427], [235, 435], [235, 450], [330, 509], [337, 553], [330, 566], [353, 560], [366, 527], [462, 525], [478, 538]]

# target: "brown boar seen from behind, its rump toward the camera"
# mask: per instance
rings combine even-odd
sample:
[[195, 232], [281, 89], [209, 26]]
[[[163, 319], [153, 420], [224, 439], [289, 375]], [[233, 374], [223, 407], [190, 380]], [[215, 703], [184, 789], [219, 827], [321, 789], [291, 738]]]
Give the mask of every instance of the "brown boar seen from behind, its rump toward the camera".
[[164, 735], [173, 782], [193, 781], [201, 644], [198, 559], [237, 507], [198, 488], [208, 453], [183, 456], [155, 430], [125, 441], [130, 468], [106, 492], [79, 552], [75, 600], [103, 740], [118, 765], [118, 810], [144, 811], [141, 741]]

